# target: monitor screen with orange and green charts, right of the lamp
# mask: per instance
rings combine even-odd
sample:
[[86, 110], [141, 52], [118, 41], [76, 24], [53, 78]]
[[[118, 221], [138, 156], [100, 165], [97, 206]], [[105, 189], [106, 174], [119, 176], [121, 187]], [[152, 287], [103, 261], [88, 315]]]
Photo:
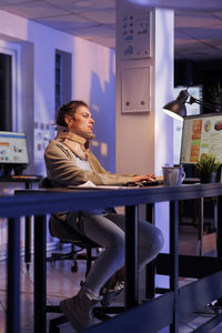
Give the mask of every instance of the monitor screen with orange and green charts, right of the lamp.
[[183, 119], [180, 163], [194, 164], [202, 153], [211, 153], [222, 161], [222, 113]]

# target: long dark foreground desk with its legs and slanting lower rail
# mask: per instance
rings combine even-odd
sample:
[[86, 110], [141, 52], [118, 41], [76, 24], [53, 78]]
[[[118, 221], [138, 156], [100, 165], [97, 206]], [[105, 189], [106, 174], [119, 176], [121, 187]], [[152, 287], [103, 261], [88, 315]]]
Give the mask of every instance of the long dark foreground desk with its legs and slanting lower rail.
[[[178, 332], [179, 314], [188, 313], [189, 305], [191, 311], [198, 310], [200, 305], [204, 305], [210, 301], [222, 295], [222, 212], [218, 209], [218, 259], [214, 263], [210, 276], [200, 279], [200, 283], [190, 283], [190, 285], [181, 290], [179, 295], [178, 276], [179, 276], [179, 259], [178, 259], [178, 222], [179, 222], [179, 201], [186, 199], [198, 199], [208, 196], [218, 196], [218, 206], [222, 206], [222, 184], [196, 184], [182, 186], [154, 186], [124, 190], [70, 190], [70, 189], [42, 189], [27, 190], [23, 195], [14, 198], [0, 198], [0, 216], [9, 216], [9, 287], [8, 307], [11, 313], [8, 317], [9, 326], [18, 319], [18, 284], [14, 283], [18, 275], [18, 254], [16, 255], [14, 244], [18, 243], [19, 233], [17, 232], [17, 216], [22, 214], [36, 214], [34, 219], [34, 333], [46, 332], [46, 220], [43, 214], [56, 213], [59, 211], [81, 211], [92, 208], [102, 206], [125, 206], [127, 228], [125, 228], [125, 309], [132, 309], [138, 303], [138, 262], [137, 262], [137, 242], [138, 242], [138, 205], [154, 204], [155, 202], [170, 202], [170, 292], [160, 296], [152, 302], [135, 307], [117, 319], [110, 320], [99, 327], [91, 327], [90, 332], [115, 332], [122, 333], [123, 324], [128, 324], [128, 332], [144, 332], [144, 323], [149, 325], [150, 332], [157, 332], [165, 325], [170, 325], [171, 332]], [[21, 193], [21, 191], [20, 191]], [[27, 195], [29, 193], [29, 195]], [[30, 195], [30, 194], [34, 195]], [[11, 205], [13, 204], [13, 210]], [[9, 210], [10, 208], [10, 210]], [[10, 213], [9, 213], [10, 211]], [[39, 216], [41, 211], [41, 216]], [[12, 219], [13, 218], [13, 219]], [[133, 235], [133, 236], [132, 236]], [[38, 240], [38, 241], [37, 241]], [[13, 255], [14, 254], [14, 258]], [[38, 273], [37, 273], [38, 272]], [[17, 273], [17, 274], [16, 274]], [[12, 276], [12, 281], [10, 281]], [[199, 282], [199, 281], [198, 281]], [[206, 295], [202, 293], [202, 287], [216, 285], [216, 290], [209, 291]], [[212, 284], [213, 283], [213, 284]], [[188, 302], [189, 295], [195, 293], [195, 302]], [[14, 299], [17, 295], [17, 299]], [[182, 295], [182, 296], [181, 296]], [[185, 303], [183, 302], [185, 300]], [[14, 303], [12, 303], [14, 301]], [[185, 309], [184, 306], [185, 305]], [[167, 311], [168, 309], [168, 311]], [[144, 312], [144, 315], [141, 315]], [[161, 315], [157, 316], [157, 312]], [[134, 315], [139, 315], [140, 320], [135, 321]], [[142, 320], [141, 320], [142, 319]], [[122, 325], [120, 325], [122, 321]], [[123, 322], [124, 321], [124, 322]], [[12, 324], [11, 324], [12, 325]], [[10, 326], [8, 333], [19, 332]]]

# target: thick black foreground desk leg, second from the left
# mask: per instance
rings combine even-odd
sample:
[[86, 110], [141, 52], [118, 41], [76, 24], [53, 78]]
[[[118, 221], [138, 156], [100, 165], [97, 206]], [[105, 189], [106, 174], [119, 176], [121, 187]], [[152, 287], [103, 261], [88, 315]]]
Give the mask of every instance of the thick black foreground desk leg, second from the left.
[[46, 216], [34, 216], [34, 333], [47, 330]]

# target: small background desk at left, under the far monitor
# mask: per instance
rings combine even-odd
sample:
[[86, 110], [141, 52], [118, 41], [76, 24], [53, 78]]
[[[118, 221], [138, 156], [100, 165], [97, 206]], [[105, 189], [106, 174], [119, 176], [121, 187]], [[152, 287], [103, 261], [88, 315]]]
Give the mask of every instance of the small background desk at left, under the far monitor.
[[[41, 175], [21, 174], [11, 176], [0, 176], [0, 183], [22, 183], [26, 190], [30, 190], [33, 183], [39, 183]], [[31, 220], [26, 216], [24, 222], [24, 262], [29, 270], [31, 262]]]

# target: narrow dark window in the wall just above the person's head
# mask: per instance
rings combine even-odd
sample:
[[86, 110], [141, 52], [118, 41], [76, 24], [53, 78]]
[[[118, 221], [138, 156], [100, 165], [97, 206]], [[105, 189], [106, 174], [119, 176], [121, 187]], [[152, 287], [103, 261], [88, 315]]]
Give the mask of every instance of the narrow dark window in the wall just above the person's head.
[[59, 107], [71, 100], [71, 53], [56, 51], [54, 105]]

